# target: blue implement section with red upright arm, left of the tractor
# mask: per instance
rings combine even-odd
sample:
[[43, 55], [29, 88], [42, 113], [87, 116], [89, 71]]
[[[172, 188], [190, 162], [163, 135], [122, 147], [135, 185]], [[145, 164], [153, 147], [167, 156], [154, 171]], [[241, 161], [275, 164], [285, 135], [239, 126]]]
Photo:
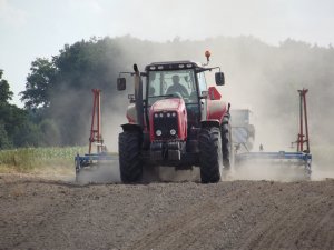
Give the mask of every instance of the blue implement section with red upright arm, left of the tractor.
[[[80, 176], [84, 171], [95, 171], [101, 164], [108, 166], [110, 162], [118, 161], [118, 157], [107, 152], [107, 148], [104, 144], [101, 136], [101, 108], [100, 108], [100, 93], [101, 90], [92, 89], [92, 113], [91, 126], [89, 137], [89, 149], [85, 156], [77, 154], [75, 157], [76, 164], [76, 180], [80, 181]], [[96, 152], [92, 152], [94, 144], [96, 146]]]

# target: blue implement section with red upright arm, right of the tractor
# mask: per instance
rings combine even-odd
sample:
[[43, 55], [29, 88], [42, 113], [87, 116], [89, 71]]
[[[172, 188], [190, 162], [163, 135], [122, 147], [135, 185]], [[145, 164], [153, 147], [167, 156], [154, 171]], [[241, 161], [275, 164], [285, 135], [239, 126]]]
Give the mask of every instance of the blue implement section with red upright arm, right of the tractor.
[[[237, 168], [246, 166], [266, 164], [268, 167], [283, 166], [292, 169], [301, 170], [307, 178], [311, 176], [312, 154], [310, 151], [308, 124], [307, 124], [307, 110], [306, 110], [306, 93], [307, 89], [298, 90], [299, 93], [299, 132], [297, 140], [292, 144], [297, 144], [296, 152], [264, 152], [263, 147], [258, 152], [246, 151], [237, 153], [235, 157], [235, 164]], [[305, 128], [305, 134], [304, 134]], [[236, 137], [237, 138], [237, 137]], [[237, 143], [238, 141], [235, 140]], [[244, 141], [239, 141], [237, 149], [240, 148]], [[306, 144], [306, 147], [305, 147]]]

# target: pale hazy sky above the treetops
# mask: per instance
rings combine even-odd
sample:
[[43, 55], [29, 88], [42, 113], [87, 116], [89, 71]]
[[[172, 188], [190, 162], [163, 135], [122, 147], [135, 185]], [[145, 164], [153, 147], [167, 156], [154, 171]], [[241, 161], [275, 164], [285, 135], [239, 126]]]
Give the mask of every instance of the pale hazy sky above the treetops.
[[334, 43], [333, 0], [0, 0], [0, 69], [22, 107], [30, 64], [63, 44], [130, 34], [144, 40], [253, 36], [278, 46]]

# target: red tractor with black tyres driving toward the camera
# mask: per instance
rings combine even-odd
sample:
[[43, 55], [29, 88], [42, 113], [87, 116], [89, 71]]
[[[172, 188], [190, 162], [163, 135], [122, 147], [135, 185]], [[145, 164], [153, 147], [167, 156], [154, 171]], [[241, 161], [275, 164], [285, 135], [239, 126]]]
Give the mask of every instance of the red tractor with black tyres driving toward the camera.
[[[207, 62], [209, 52], [206, 51]], [[219, 67], [193, 61], [154, 62], [139, 72], [120, 72], [117, 89], [126, 89], [126, 78], [135, 79], [129, 94], [128, 123], [119, 134], [121, 181], [138, 182], [144, 166], [176, 169], [200, 168], [203, 183], [222, 180], [232, 163], [229, 104], [215, 87], [207, 88], [205, 72], [217, 70], [217, 86], [225, 84]], [[141, 78], [145, 78], [143, 81]]]

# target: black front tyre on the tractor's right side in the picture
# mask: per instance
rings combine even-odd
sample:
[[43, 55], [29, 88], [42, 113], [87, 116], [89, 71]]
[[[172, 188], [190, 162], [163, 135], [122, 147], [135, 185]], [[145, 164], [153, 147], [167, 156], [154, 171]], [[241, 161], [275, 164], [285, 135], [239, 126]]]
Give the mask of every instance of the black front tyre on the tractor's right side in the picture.
[[198, 137], [202, 183], [215, 183], [222, 178], [223, 156], [220, 130], [203, 128]]

